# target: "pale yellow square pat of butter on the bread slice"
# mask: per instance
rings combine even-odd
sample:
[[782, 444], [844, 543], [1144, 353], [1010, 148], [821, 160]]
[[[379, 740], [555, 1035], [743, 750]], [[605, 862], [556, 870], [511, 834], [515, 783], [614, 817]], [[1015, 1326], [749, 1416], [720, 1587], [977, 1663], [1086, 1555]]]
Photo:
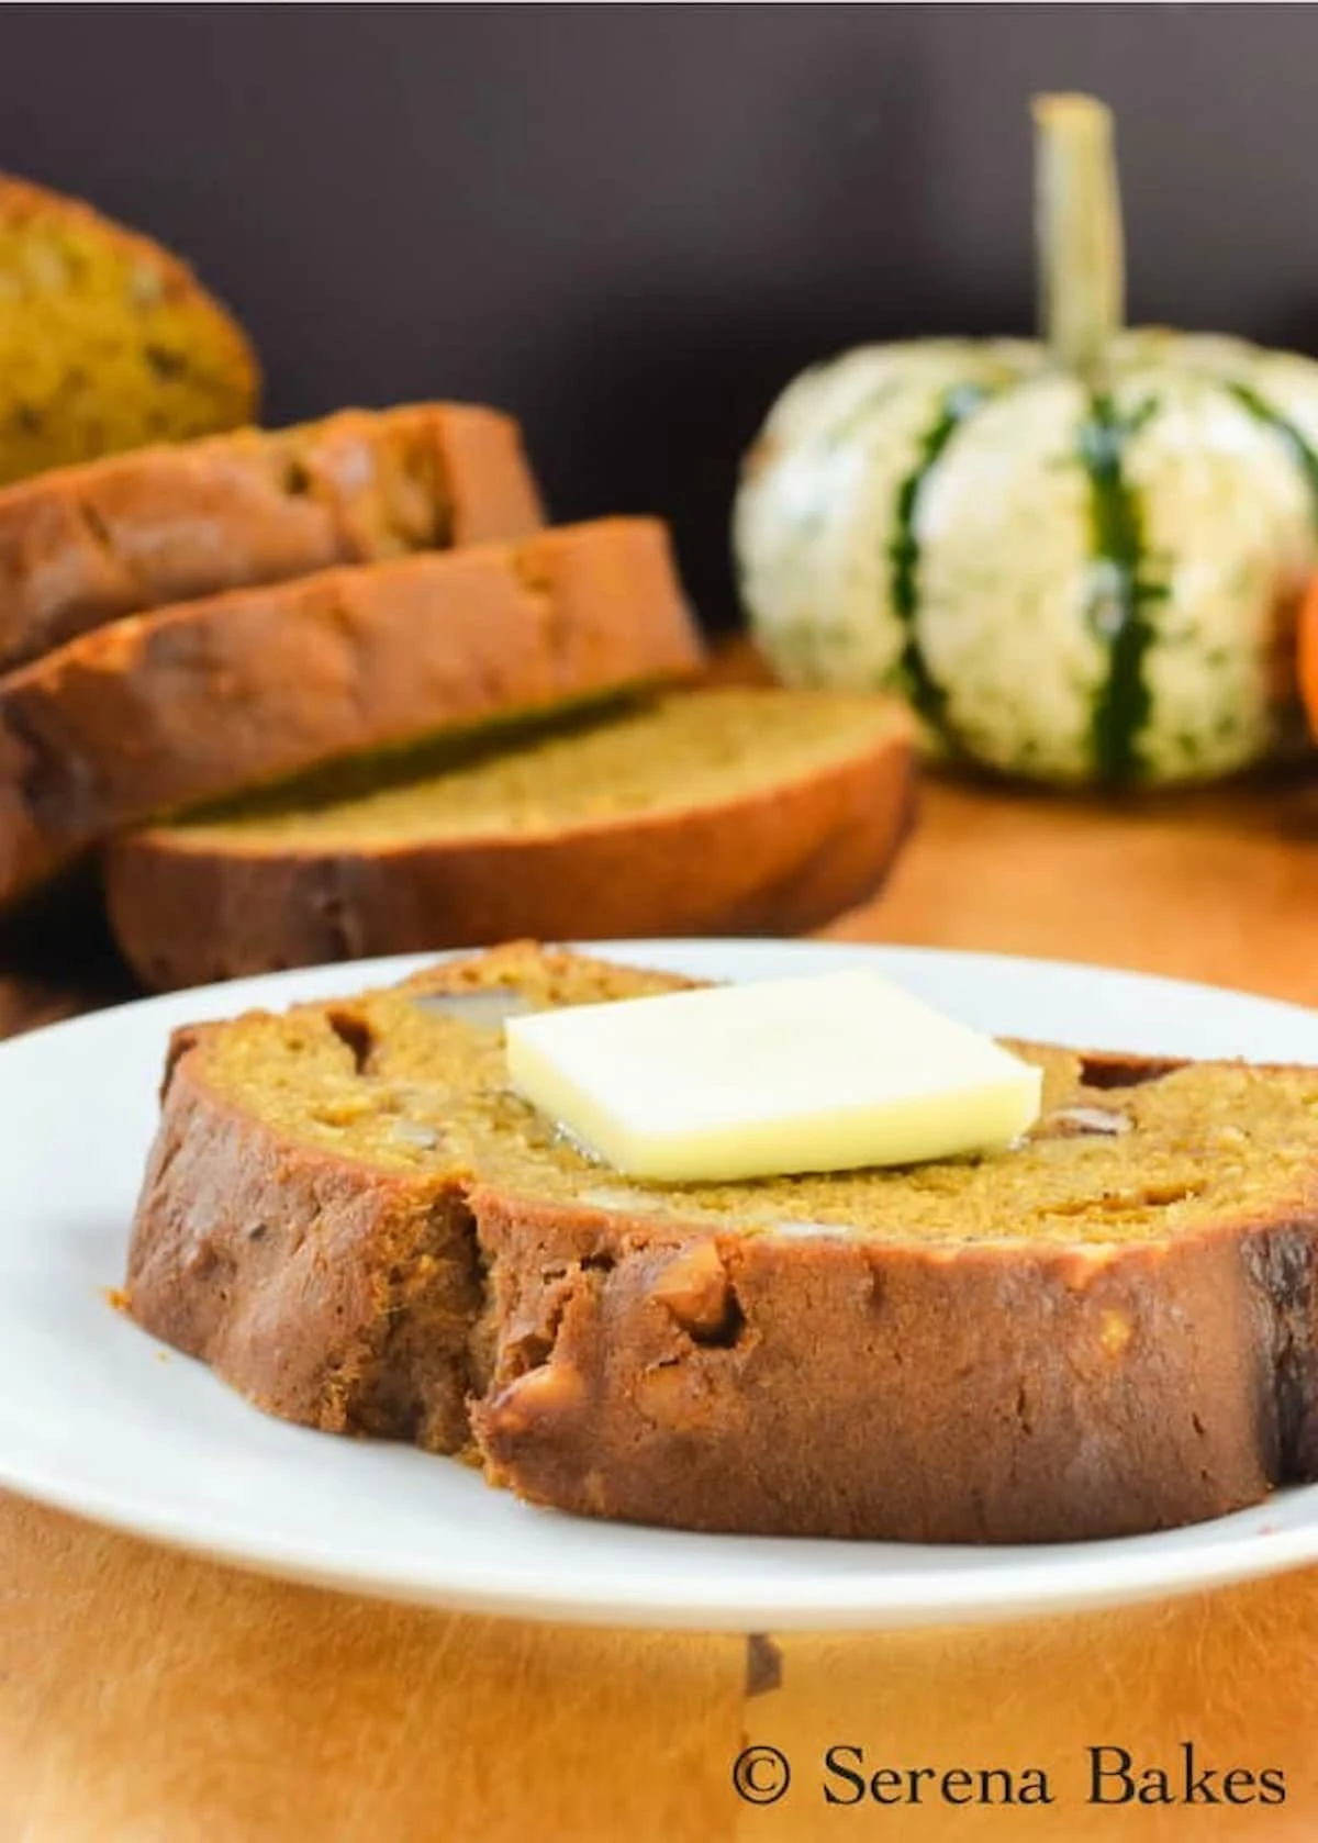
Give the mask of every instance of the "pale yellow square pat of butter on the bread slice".
[[512, 1086], [632, 1178], [724, 1181], [1006, 1146], [1041, 1071], [865, 969], [505, 1023]]

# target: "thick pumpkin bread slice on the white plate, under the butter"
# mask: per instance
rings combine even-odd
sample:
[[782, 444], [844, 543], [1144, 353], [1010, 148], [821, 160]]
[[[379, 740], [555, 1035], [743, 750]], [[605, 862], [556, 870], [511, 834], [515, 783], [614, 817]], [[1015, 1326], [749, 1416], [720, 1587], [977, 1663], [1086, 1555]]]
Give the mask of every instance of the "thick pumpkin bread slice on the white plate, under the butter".
[[936, 1543], [1318, 1474], [1318, 1071], [1016, 1045], [1016, 1148], [658, 1187], [507, 1087], [511, 1010], [680, 986], [512, 945], [175, 1036], [125, 1305], [271, 1414], [566, 1511]]

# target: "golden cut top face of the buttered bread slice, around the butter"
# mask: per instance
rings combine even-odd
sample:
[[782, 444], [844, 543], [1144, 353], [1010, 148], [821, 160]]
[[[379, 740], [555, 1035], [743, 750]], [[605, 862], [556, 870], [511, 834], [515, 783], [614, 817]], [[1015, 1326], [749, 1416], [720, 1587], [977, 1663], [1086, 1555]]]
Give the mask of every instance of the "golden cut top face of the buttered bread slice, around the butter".
[[[476, 962], [481, 986], [511, 986], [533, 1008], [594, 1004], [667, 980], [590, 960], [505, 953]], [[1318, 1071], [1187, 1063], [1104, 1095], [1130, 1132], [1062, 1133], [1053, 1121], [1089, 1097], [1069, 1052], [1014, 1043], [1049, 1073], [1040, 1128], [1012, 1152], [907, 1170], [665, 1187], [619, 1180], [555, 1135], [507, 1089], [503, 1039], [488, 1010], [465, 1012], [446, 975], [332, 1010], [253, 1017], [214, 1038], [208, 1080], [308, 1145], [415, 1170], [452, 1163], [509, 1191], [654, 1218], [699, 1215], [747, 1235], [855, 1235], [953, 1240], [1139, 1240], [1189, 1231], [1259, 1203], [1300, 1209], [1318, 1167]], [[437, 995], [430, 995], [439, 986]], [[411, 1132], [400, 1133], [400, 1122]], [[418, 1137], [417, 1128], [435, 1135]]]

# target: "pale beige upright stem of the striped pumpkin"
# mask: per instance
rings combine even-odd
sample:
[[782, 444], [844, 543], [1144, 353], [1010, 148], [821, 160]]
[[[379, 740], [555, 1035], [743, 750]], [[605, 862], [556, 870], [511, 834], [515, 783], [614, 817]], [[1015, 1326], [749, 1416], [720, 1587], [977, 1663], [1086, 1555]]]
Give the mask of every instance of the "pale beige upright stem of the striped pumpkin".
[[1040, 319], [1060, 365], [1093, 376], [1124, 315], [1112, 111], [1093, 96], [1034, 98]]

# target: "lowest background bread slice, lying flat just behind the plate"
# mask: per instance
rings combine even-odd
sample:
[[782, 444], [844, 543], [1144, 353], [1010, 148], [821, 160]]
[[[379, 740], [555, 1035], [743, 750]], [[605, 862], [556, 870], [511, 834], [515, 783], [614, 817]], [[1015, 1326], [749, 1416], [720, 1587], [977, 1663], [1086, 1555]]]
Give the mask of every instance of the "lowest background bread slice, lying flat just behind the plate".
[[896, 702], [691, 691], [356, 796], [129, 835], [105, 886], [157, 988], [516, 934], [794, 934], [874, 892], [911, 802]]

